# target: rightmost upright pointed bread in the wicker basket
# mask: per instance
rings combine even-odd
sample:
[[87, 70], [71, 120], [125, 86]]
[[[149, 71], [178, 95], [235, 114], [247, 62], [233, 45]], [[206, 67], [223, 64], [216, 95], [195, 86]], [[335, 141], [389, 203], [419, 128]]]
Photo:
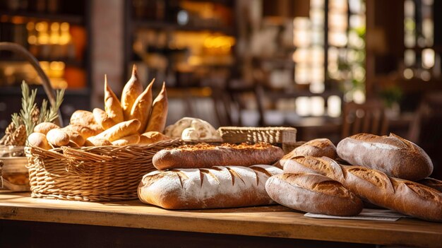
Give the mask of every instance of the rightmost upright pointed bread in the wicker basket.
[[162, 83], [161, 91], [160, 93], [158, 93], [157, 97], [153, 101], [148, 126], [146, 127], [144, 133], [148, 131], [159, 131], [160, 133], [162, 133], [162, 131], [164, 131], [166, 127], [167, 111], [168, 102], [166, 83]]

